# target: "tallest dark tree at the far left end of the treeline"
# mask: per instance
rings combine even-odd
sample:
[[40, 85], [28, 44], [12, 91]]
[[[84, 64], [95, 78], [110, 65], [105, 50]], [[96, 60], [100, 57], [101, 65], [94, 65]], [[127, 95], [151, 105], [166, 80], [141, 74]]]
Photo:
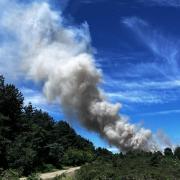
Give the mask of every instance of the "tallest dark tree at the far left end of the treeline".
[[14, 85], [4, 83], [0, 76], [0, 167], [8, 168], [7, 148], [19, 133], [23, 96]]

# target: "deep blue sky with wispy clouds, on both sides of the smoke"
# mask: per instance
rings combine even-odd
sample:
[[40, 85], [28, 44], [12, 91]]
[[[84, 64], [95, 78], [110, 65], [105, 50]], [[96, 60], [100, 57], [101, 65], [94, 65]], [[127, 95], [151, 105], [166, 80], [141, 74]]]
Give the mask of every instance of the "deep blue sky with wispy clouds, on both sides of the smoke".
[[[22, 2], [22, 0], [21, 0]], [[27, 1], [26, 1], [27, 2]], [[102, 69], [101, 88], [111, 102], [123, 104], [122, 113], [156, 133], [164, 131], [180, 143], [180, 1], [178, 0], [53, 0], [68, 23], [87, 22], [96, 66]], [[12, 82], [12, 80], [8, 80]], [[66, 119], [57, 104], [50, 104], [41, 85], [14, 83], [25, 102]], [[92, 132], [72, 123], [77, 133], [96, 146], [110, 148]], [[113, 149], [114, 150], [114, 149]]]

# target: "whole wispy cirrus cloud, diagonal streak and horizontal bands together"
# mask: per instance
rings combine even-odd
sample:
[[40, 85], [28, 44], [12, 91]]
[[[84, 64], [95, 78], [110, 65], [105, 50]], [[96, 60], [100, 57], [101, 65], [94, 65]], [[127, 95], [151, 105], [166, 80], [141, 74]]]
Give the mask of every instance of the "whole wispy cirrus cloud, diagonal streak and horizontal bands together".
[[113, 78], [106, 77], [109, 97], [114, 101], [140, 104], [177, 101], [180, 95], [179, 41], [165, 36], [137, 17], [124, 18], [123, 23], [134, 33], [135, 39], [146, 47], [151, 57], [147, 61], [146, 56], [134, 54], [134, 60], [129, 61], [127, 54], [128, 58], [123, 57], [127, 63], [123, 65], [118, 62], [122, 59], [120, 55], [117, 59], [111, 59], [110, 63], [117, 63], [121, 73], [113, 70]]

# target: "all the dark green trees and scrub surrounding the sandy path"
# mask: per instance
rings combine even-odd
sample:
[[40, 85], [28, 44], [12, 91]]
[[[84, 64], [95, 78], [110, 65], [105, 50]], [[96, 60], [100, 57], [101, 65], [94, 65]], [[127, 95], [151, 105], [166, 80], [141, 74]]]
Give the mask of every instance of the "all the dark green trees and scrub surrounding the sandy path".
[[174, 180], [180, 179], [180, 147], [126, 154], [95, 149], [68, 123], [25, 106], [21, 92], [0, 76], [0, 180], [35, 180], [38, 173], [64, 166], [82, 167], [73, 177], [56, 180]]

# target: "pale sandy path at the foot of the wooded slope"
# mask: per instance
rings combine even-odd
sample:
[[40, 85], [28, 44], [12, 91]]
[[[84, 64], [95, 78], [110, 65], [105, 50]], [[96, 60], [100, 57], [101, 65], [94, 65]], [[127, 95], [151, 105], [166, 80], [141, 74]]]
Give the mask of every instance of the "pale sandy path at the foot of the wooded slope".
[[[63, 173], [65, 174], [71, 174], [74, 173], [76, 170], [80, 169], [80, 167], [72, 167], [66, 170], [60, 170], [60, 171], [55, 171], [55, 172], [50, 172], [50, 173], [43, 173], [40, 174], [40, 178], [42, 180], [50, 180], [52, 178], [55, 178], [56, 176], [60, 176]], [[26, 180], [27, 178], [20, 178], [20, 180]]]

